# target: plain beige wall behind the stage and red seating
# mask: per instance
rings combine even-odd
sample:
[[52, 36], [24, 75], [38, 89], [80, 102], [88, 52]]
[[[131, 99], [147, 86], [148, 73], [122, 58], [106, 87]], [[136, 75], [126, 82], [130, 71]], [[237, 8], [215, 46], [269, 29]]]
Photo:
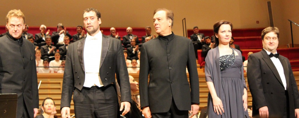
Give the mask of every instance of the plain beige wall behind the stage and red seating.
[[[51, 1], [1, 1], [0, 25], [6, 24], [5, 16], [11, 9], [21, 9], [29, 26], [65, 27], [83, 25], [83, 10], [94, 7], [102, 13], [101, 27], [153, 27], [152, 17], [156, 8], [173, 10], [175, 19], [173, 32], [183, 35], [182, 19], [186, 18], [187, 29], [213, 29], [219, 20], [231, 21], [234, 28], [268, 27], [267, 0], [51, 0]], [[280, 29], [280, 45], [291, 43], [290, 26], [287, 19], [299, 23], [298, 1], [273, 0], [274, 25]], [[16, 4], [17, 3], [17, 4]], [[259, 21], [260, 24], [256, 24]], [[299, 27], [293, 27], [298, 37]], [[134, 33], [134, 32], [133, 32]], [[294, 38], [299, 44], [298, 38]]]

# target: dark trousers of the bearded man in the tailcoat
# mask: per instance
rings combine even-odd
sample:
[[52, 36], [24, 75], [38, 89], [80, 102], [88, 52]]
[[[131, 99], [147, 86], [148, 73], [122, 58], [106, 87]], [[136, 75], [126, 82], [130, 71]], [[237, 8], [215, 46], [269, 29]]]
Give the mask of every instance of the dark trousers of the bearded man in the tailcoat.
[[104, 87], [83, 87], [74, 90], [76, 118], [116, 118], [118, 98], [112, 84]]

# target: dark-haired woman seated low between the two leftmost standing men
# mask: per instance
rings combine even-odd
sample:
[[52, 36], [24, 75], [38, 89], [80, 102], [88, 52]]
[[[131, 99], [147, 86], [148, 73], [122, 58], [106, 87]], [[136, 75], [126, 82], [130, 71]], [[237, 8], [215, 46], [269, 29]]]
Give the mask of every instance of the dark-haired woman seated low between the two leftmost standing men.
[[55, 102], [51, 97], [45, 98], [42, 102], [41, 109], [41, 114], [37, 115], [35, 118], [57, 118]]

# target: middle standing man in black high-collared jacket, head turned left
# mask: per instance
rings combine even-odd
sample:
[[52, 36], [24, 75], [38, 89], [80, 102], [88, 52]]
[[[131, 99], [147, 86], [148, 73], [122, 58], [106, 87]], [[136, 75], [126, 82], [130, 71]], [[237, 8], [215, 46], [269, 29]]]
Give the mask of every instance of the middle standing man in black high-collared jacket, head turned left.
[[139, 91], [142, 113], [146, 118], [151, 115], [154, 118], [186, 118], [191, 110], [193, 116], [199, 110], [199, 82], [192, 41], [171, 32], [172, 11], [157, 9], [153, 19], [159, 36], [141, 46]]

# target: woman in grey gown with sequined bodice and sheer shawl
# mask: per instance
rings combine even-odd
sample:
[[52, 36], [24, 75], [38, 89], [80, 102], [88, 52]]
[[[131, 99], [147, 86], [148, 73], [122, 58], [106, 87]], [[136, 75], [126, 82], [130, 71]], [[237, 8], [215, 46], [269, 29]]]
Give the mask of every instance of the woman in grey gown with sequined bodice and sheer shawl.
[[214, 48], [205, 59], [210, 118], [248, 117], [242, 55], [239, 50], [229, 47], [232, 28], [229, 21], [214, 24]]

